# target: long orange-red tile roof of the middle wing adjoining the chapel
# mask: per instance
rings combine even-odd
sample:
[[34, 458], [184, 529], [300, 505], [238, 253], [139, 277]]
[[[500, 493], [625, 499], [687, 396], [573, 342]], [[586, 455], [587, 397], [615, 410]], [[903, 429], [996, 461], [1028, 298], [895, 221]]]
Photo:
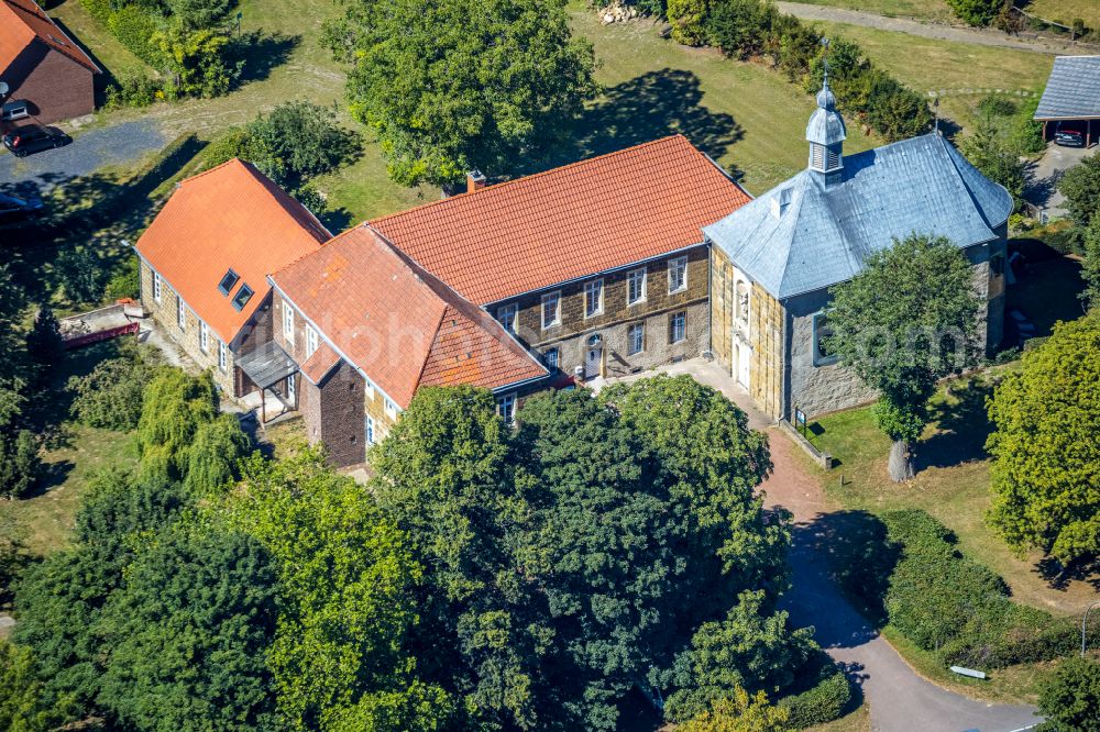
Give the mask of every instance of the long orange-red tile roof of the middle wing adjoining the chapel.
[[428, 203], [370, 225], [487, 304], [703, 241], [750, 200], [681, 135]]

